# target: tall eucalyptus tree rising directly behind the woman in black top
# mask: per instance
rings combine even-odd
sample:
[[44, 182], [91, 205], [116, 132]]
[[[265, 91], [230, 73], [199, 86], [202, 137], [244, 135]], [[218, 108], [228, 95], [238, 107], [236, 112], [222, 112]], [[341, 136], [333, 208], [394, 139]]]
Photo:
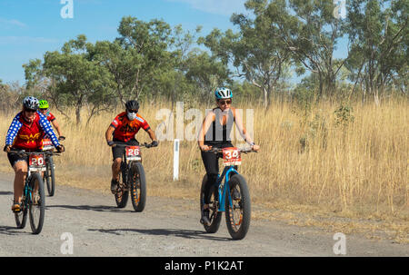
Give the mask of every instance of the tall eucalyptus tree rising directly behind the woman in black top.
[[268, 1], [250, 0], [245, 3], [253, 15], [234, 14], [231, 21], [240, 32], [218, 29], [207, 35], [203, 43], [224, 64], [232, 64], [235, 77], [244, 77], [263, 92], [264, 107], [290, 64], [291, 51], [278, 39], [280, 29], [267, 14]]

